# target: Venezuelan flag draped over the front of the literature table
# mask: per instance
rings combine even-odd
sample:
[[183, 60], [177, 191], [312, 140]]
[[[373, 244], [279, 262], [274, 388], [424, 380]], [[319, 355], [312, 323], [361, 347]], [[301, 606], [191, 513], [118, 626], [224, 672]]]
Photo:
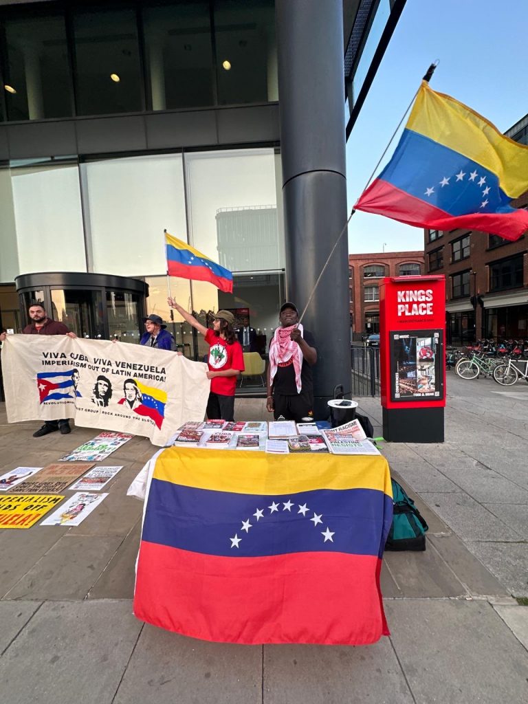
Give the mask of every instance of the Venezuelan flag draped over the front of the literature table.
[[168, 448], [151, 462], [138, 618], [230, 643], [363, 645], [389, 635], [382, 455]]

